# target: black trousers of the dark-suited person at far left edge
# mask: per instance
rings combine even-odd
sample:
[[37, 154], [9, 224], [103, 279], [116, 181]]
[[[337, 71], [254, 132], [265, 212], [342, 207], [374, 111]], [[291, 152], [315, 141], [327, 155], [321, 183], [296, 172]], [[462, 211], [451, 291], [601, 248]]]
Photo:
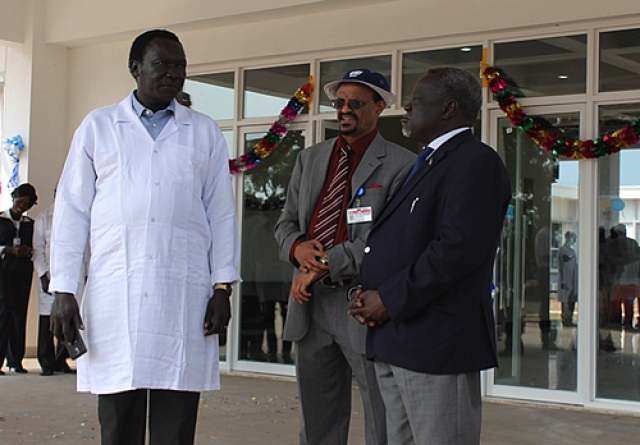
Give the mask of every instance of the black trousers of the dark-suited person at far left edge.
[[0, 367], [22, 366], [32, 270], [0, 270]]

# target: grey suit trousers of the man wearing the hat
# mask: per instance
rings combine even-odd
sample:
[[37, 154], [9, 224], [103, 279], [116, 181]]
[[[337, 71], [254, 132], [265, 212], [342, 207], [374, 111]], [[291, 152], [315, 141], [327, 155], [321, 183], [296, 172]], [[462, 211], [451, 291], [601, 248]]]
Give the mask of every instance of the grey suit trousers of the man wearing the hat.
[[347, 315], [346, 289], [316, 284], [312, 300], [309, 331], [296, 342], [300, 444], [347, 445], [355, 375], [364, 406], [366, 443], [385, 445], [384, 402], [373, 363], [353, 350], [346, 329], [353, 322]]

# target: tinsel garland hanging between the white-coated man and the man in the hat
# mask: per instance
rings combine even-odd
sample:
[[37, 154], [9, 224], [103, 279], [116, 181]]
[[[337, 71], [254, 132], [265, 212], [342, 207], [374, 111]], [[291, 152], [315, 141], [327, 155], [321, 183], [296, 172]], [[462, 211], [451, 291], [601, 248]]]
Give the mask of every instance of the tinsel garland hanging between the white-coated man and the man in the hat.
[[280, 112], [278, 120], [271, 125], [269, 131], [258, 141], [253, 147], [253, 150], [243, 154], [239, 158], [229, 159], [229, 170], [232, 174], [243, 173], [255, 167], [271, 154], [284, 135], [287, 134], [289, 125], [298, 117], [298, 113], [300, 113], [302, 107], [306, 103], [311, 105], [313, 88], [313, 77], [311, 77], [309, 82], [298, 88], [293, 97], [289, 99], [289, 103], [287, 103]]

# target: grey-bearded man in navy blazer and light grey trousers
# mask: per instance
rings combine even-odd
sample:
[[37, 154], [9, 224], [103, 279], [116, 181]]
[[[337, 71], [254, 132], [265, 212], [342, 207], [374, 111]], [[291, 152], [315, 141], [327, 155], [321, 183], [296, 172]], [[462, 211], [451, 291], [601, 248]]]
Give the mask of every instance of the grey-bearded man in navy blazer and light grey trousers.
[[503, 161], [471, 132], [481, 103], [464, 70], [416, 83], [402, 126], [423, 152], [371, 229], [349, 304], [369, 325], [389, 443], [480, 443], [480, 370], [498, 363], [492, 269], [511, 199]]

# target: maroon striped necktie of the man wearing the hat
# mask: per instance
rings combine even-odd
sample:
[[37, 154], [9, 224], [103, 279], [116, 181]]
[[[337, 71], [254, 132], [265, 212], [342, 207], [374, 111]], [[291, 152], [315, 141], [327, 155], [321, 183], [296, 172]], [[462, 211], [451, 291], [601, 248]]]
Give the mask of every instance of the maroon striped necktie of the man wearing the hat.
[[342, 212], [344, 192], [347, 188], [349, 177], [349, 151], [351, 147], [342, 147], [338, 152], [338, 165], [333, 179], [327, 188], [327, 194], [322, 200], [318, 220], [314, 230], [315, 238], [322, 243], [325, 249], [333, 247], [336, 237], [338, 221]]

